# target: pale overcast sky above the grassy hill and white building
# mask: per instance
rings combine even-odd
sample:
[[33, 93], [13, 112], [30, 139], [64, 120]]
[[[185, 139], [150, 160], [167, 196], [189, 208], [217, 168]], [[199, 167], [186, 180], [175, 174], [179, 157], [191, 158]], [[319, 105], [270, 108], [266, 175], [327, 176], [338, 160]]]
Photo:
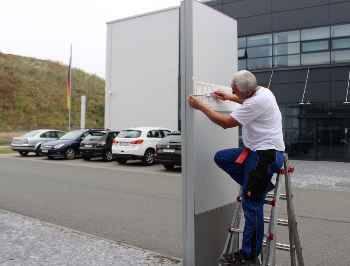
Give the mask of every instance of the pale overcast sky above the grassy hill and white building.
[[69, 64], [105, 78], [106, 22], [180, 0], [0, 0], [0, 52]]

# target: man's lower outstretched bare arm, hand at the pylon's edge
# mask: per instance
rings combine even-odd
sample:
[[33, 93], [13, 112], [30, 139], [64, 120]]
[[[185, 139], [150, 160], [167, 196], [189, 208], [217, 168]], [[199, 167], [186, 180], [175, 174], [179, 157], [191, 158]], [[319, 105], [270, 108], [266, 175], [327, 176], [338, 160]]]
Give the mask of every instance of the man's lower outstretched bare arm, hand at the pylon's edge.
[[222, 128], [230, 128], [230, 127], [236, 127], [239, 126], [240, 123], [233, 118], [232, 116], [228, 115], [227, 117], [223, 116], [222, 114], [219, 114], [218, 112], [215, 112], [214, 110], [210, 109], [208, 106], [206, 106], [201, 100], [194, 97], [192, 94], [190, 94], [187, 98], [188, 105], [196, 110], [200, 110], [203, 112], [212, 122], [215, 124], [221, 126]]

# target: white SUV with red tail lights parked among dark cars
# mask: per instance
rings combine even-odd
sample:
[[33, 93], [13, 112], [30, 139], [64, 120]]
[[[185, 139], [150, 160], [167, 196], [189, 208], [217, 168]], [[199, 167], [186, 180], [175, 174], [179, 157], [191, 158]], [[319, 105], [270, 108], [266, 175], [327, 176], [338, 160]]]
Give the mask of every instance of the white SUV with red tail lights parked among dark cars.
[[155, 145], [172, 132], [163, 127], [133, 127], [120, 131], [113, 140], [112, 154], [120, 164], [127, 160], [141, 160], [150, 166], [154, 162]]

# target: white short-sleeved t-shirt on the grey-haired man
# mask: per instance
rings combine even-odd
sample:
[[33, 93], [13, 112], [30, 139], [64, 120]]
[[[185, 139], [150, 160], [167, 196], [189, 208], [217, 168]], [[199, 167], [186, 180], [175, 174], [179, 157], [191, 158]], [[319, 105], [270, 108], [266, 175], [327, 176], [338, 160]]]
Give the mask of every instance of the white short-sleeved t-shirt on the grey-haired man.
[[269, 89], [260, 87], [231, 116], [243, 125], [243, 143], [251, 151], [285, 150], [281, 112]]

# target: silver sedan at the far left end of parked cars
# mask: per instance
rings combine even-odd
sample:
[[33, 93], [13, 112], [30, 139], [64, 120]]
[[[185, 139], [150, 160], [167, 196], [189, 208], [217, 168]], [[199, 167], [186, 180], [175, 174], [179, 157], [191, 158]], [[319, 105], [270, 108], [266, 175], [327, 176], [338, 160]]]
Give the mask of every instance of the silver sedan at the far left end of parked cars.
[[12, 138], [11, 149], [23, 156], [29, 152], [35, 152], [36, 156], [40, 156], [39, 148], [41, 144], [50, 140], [56, 140], [64, 134], [63, 131], [52, 129], [29, 131], [21, 137]]

